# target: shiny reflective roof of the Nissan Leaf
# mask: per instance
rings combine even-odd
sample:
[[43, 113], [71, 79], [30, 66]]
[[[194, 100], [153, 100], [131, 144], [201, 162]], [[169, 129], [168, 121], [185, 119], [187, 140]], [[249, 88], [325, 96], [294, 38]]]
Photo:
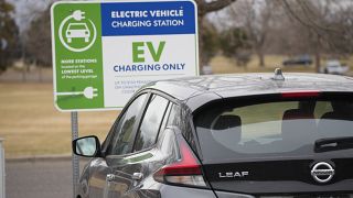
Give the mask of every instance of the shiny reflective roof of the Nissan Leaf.
[[157, 89], [195, 110], [204, 103], [243, 96], [296, 91], [353, 92], [353, 78], [336, 75], [287, 73], [285, 80], [275, 80], [274, 74], [254, 73], [210, 75], [152, 81], [142, 89]]

